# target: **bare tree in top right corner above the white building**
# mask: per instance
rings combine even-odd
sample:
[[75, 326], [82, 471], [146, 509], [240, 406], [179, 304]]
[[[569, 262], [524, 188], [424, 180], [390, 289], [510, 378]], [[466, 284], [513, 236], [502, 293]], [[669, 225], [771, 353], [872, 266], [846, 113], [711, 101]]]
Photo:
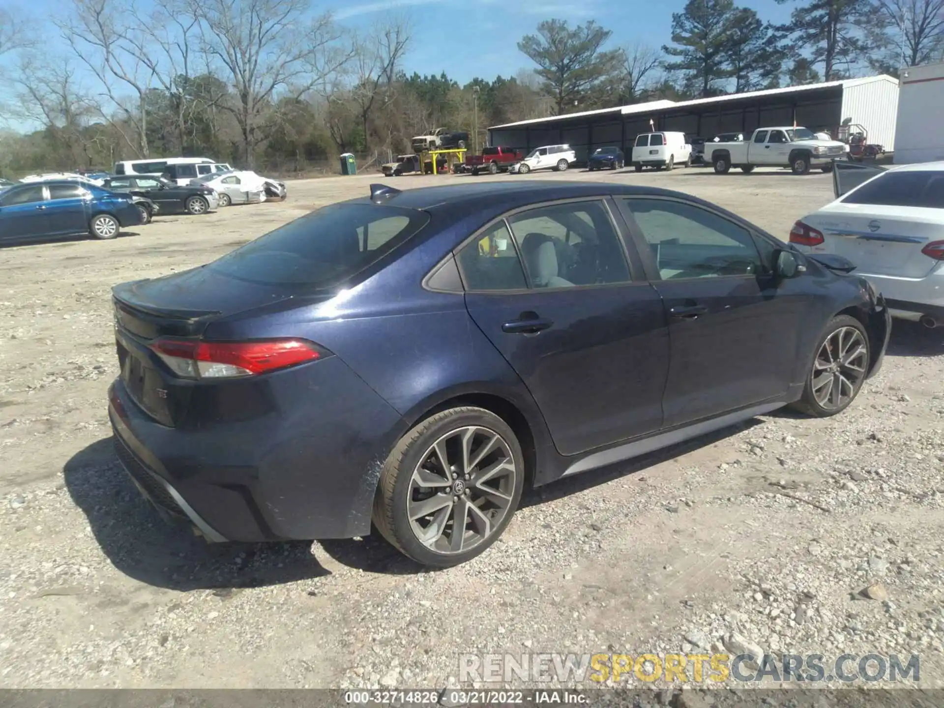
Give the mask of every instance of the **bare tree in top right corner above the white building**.
[[877, 0], [876, 8], [903, 66], [936, 59], [944, 46], [944, 0]]

